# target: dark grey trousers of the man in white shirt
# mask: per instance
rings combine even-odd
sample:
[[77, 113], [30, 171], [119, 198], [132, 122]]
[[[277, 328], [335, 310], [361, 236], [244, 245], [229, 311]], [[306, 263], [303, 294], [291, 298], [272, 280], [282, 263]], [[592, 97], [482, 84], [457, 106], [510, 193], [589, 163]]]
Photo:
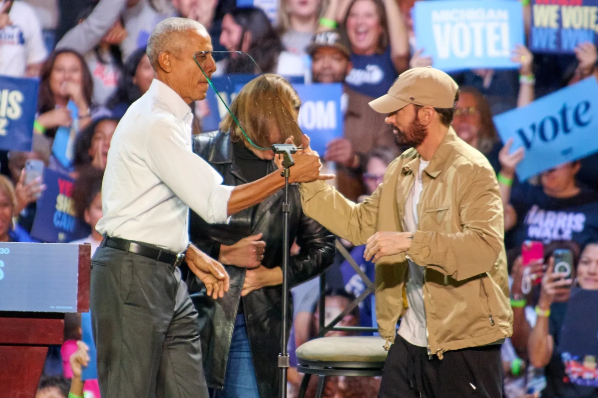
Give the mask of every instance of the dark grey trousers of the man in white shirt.
[[181, 271], [107, 247], [91, 267], [102, 398], [208, 398], [197, 311]]

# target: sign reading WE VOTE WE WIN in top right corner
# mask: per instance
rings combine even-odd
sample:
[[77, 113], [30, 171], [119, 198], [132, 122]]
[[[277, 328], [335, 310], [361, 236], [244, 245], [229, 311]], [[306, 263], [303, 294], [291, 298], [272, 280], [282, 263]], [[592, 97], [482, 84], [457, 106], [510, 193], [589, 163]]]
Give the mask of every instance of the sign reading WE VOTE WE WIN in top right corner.
[[596, 44], [598, 0], [532, 0], [535, 53], [573, 53], [580, 43]]

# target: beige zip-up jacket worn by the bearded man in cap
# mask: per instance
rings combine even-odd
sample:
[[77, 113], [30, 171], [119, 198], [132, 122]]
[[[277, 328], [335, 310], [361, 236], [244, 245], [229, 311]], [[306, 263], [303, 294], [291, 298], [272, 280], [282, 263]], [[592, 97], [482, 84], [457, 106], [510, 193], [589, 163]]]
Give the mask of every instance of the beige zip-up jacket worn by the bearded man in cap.
[[[405, 200], [420, 156], [395, 159], [364, 202], [345, 199], [324, 181], [301, 184], [303, 210], [335, 235], [364, 245], [377, 231], [404, 231]], [[425, 268], [428, 354], [477, 347], [512, 334], [504, 216], [490, 163], [449, 128], [422, 173], [419, 226], [411, 248], [376, 263], [376, 316], [387, 348], [407, 307], [408, 256]]]

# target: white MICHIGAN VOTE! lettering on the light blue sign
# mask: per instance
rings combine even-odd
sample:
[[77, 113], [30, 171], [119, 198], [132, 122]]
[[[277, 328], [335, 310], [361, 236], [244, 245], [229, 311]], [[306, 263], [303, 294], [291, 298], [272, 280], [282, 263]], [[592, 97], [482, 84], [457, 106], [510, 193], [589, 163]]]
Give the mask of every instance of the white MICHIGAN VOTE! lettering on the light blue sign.
[[508, 57], [507, 10], [432, 11], [432, 32], [438, 57]]

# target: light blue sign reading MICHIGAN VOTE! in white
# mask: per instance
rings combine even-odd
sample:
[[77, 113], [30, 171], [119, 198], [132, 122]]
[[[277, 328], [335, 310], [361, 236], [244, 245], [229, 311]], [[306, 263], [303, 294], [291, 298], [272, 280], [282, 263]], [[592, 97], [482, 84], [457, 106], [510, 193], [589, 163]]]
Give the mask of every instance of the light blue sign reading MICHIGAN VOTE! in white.
[[417, 47], [446, 71], [517, 69], [511, 51], [524, 44], [521, 3], [514, 0], [417, 1]]

